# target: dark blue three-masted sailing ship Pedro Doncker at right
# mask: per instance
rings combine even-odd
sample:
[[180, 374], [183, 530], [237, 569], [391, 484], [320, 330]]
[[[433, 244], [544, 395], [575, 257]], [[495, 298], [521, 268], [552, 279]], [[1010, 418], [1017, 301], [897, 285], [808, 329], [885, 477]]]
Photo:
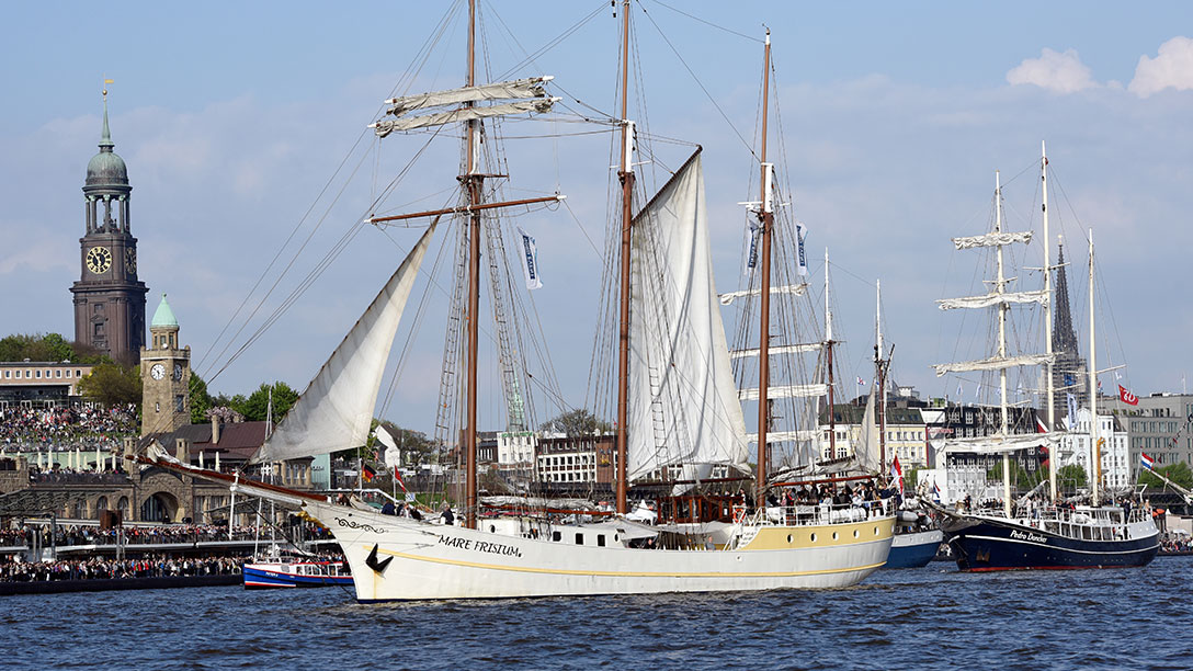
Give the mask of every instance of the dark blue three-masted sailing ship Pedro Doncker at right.
[[[995, 511], [956, 511], [934, 506], [940, 513], [941, 528], [948, 536], [948, 546], [962, 571], [1012, 571], [1039, 568], [1109, 568], [1144, 566], [1160, 548], [1160, 533], [1144, 506], [1117, 505], [1102, 501], [1100, 492], [1101, 457], [1098, 451], [1098, 421], [1089, 423], [1090, 450], [1094, 476], [1089, 505], [1062, 505], [1056, 488], [1056, 462], [1050, 458], [1050, 484], [1053, 505], [1043, 511], [1015, 505], [1010, 490], [1010, 454], [1031, 445], [1056, 444], [1055, 425], [1047, 433], [1012, 435], [1008, 431], [1007, 370], [1021, 365], [1046, 365], [1047, 407], [1052, 411], [1051, 333], [1046, 332], [1047, 351], [1044, 355], [1010, 356], [1007, 351], [1007, 316], [1012, 304], [1038, 303], [1049, 314], [1051, 304], [1052, 269], [1047, 253], [1047, 155], [1040, 158], [1043, 183], [1044, 276], [1045, 285], [1037, 291], [1007, 291], [1009, 279], [1005, 275], [1003, 247], [1031, 241], [1031, 232], [1007, 233], [1002, 229], [1002, 189], [995, 178], [995, 224], [984, 235], [954, 238], [957, 250], [995, 250], [996, 278], [994, 290], [984, 296], [939, 301], [941, 309], [994, 307], [997, 313], [997, 351], [993, 357], [952, 364], [938, 364], [937, 374], [966, 370], [997, 370], [1000, 377], [1001, 429], [995, 436], [960, 438], [959, 444], [969, 451], [1002, 455], [1003, 507]], [[1090, 417], [1098, 412], [1098, 369], [1094, 344], [1094, 246], [1089, 235], [1089, 407]], [[1045, 316], [1045, 324], [1050, 319]], [[1052, 419], [1052, 418], [1050, 418]], [[1055, 455], [1055, 450], [1049, 450]], [[1043, 482], [1041, 482], [1043, 485]], [[1020, 499], [1025, 504], [1027, 497]], [[931, 504], [928, 504], [931, 505]]]

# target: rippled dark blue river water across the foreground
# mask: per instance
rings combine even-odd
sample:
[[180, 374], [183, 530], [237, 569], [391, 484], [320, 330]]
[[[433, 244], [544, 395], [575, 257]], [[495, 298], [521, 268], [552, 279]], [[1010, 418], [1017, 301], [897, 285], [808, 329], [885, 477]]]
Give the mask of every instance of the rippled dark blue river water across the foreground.
[[1193, 558], [857, 587], [358, 605], [336, 587], [0, 597], [13, 669], [1191, 669]]

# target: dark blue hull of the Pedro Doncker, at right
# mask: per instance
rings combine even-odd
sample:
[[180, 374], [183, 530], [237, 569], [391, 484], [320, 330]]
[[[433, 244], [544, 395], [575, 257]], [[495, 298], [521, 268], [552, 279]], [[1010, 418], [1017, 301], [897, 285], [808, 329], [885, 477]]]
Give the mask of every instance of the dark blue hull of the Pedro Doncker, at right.
[[1160, 536], [1082, 540], [988, 517], [959, 516], [945, 524], [962, 571], [1117, 568], [1145, 566], [1160, 550]]

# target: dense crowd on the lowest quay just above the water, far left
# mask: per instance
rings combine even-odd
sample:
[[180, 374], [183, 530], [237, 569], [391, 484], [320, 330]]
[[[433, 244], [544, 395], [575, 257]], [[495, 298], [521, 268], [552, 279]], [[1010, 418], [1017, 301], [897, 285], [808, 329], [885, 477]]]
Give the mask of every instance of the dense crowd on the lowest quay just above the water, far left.
[[166, 555], [142, 559], [60, 559], [38, 562], [2, 559], [0, 560], [0, 583], [235, 575], [241, 572], [243, 561], [239, 556], [172, 558]]

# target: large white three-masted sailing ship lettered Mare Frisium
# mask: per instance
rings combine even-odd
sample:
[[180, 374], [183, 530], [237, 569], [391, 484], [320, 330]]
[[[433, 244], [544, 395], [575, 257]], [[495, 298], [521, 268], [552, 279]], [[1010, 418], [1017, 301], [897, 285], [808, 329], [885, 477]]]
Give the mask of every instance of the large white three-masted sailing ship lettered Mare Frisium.
[[[382, 371], [415, 276], [440, 217], [468, 227], [468, 349], [463, 376], [465, 494], [463, 524], [383, 515], [359, 501], [253, 481], [242, 474], [200, 474], [172, 463], [161, 450], [149, 461], [229, 484], [235, 492], [301, 509], [326, 525], [351, 567], [357, 599], [499, 598], [744, 591], [853, 585], [880, 567], [890, 549], [894, 517], [877, 507], [823, 509], [815, 515], [767, 509], [766, 450], [760, 450], [756, 505], [734, 511], [731, 525], [713, 538], [699, 525], [676, 538], [631, 522], [628, 486], [660, 473], [707, 473], [711, 467], [746, 468], [747, 435], [733, 378], [719, 300], [712, 278], [701, 152], [697, 149], [657, 193], [632, 213], [633, 123], [626, 121], [630, 1], [622, 4], [620, 319], [617, 410], [617, 513], [595, 524], [567, 524], [558, 516], [484, 518], [477, 497], [477, 322], [482, 217], [518, 202], [487, 202], [478, 165], [486, 119], [543, 112], [554, 100], [550, 78], [475, 82], [475, 0], [469, 2], [466, 85], [462, 88], [389, 100], [388, 116], [373, 124], [381, 137], [431, 125], [463, 124], [465, 205], [418, 215], [373, 217], [373, 223], [429, 218], [421, 235], [381, 293], [299, 396], [278, 430], [252, 457], [268, 463], [308, 457], [365, 443]], [[769, 88], [769, 35], [766, 85]], [[764, 99], [765, 100], [765, 99]], [[764, 101], [765, 105], [765, 101]], [[429, 110], [429, 111], [428, 111]], [[424, 112], [419, 115], [418, 112]], [[416, 115], [416, 116], [412, 116]], [[765, 115], [764, 115], [765, 118]], [[764, 137], [765, 133], [764, 121]], [[487, 140], [492, 142], [492, 137]], [[765, 147], [765, 141], [764, 141]], [[771, 165], [762, 152], [761, 171]], [[773, 227], [771, 183], [764, 179], [760, 227], [764, 258]], [[766, 261], [768, 263], [768, 261]], [[764, 269], [766, 266], [764, 265]], [[768, 332], [768, 275], [762, 275], [762, 333]], [[759, 388], [771, 392], [766, 371], [768, 338], [761, 338]], [[765, 445], [766, 426], [759, 444]], [[746, 501], [741, 501], [744, 504]], [[356, 504], [356, 505], [354, 505]], [[684, 536], [684, 534], [679, 534]]]

